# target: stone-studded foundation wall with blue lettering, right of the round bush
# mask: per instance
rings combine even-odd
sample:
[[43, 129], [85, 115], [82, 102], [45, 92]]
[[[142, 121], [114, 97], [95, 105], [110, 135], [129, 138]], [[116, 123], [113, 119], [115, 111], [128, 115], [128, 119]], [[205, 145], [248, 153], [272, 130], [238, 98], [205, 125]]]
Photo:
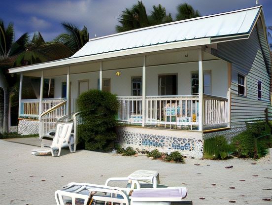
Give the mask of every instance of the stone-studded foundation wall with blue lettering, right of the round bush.
[[183, 156], [203, 157], [201, 132], [120, 127], [117, 133], [124, 148], [132, 147], [139, 152], [154, 149], [167, 153], [179, 151]]

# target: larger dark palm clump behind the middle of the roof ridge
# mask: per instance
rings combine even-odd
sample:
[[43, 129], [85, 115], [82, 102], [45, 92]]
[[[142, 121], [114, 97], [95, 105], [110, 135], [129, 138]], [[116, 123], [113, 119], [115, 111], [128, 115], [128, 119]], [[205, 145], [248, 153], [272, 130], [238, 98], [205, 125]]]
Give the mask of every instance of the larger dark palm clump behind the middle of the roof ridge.
[[118, 20], [121, 26], [117, 25], [115, 30], [117, 32], [125, 32], [152, 25], [172, 22], [172, 17], [171, 14], [166, 14], [166, 9], [165, 7], [162, 7], [161, 4], [158, 6], [154, 5], [151, 15], [147, 15], [142, 1], [138, 1], [138, 3], [134, 4], [131, 9], [126, 8], [124, 11], [122, 11], [122, 14]]

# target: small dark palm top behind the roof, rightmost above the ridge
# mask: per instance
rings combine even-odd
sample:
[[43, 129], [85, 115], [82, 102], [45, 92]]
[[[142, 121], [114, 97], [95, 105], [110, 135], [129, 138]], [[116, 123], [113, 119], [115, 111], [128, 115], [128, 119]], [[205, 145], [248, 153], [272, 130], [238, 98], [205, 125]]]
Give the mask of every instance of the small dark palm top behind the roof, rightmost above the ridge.
[[179, 4], [177, 6], [177, 12], [178, 12], [176, 15], [177, 21], [200, 16], [200, 12], [198, 10], [195, 11], [195, 9], [187, 3]]

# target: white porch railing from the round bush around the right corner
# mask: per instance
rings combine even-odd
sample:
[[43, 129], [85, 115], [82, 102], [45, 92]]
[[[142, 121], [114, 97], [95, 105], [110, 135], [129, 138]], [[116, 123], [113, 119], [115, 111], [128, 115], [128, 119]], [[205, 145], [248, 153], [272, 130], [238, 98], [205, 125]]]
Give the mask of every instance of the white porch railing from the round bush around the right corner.
[[[197, 130], [199, 96], [146, 96], [142, 113], [142, 97], [117, 97], [120, 102], [118, 120], [128, 124]], [[229, 127], [228, 99], [204, 94], [204, 130]]]

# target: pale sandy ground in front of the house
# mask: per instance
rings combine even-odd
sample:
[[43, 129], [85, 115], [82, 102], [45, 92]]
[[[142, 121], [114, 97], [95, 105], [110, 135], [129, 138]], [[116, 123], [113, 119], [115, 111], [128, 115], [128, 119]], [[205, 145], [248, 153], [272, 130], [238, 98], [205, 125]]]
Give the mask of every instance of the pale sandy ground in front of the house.
[[[0, 205], [56, 205], [54, 192], [69, 182], [103, 184], [109, 177], [139, 169], [159, 171], [162, 184], [187, 187], [186, 200], [194, 205], [226, 205], [230, 200], [237, 205], [272, 204], [263, 200], [272, 197], [271, 156], [258, 161], [186, 159], [186, 164], [175, 164], [86, 150], [33, 156], [35, 148], [0, 140]], [[233, 168], [225, 168], [230, 165]]]

